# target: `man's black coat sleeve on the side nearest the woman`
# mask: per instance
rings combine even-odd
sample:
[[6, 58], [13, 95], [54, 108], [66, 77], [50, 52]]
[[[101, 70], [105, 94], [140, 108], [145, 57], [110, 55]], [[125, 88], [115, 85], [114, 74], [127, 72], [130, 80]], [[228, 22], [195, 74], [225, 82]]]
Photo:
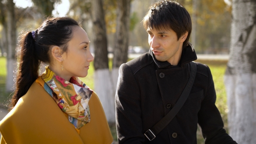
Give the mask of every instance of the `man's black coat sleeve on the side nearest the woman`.
[[142, 144], [140, 90], [128, 65], [119, 68], [115, 94], [116, 128], [119, 144]]

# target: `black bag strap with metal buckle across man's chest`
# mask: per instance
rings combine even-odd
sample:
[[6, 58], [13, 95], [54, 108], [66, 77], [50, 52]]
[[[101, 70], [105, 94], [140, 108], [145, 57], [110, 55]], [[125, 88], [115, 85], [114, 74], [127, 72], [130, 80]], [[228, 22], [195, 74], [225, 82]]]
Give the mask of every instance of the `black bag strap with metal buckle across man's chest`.
[[151, 129], [145, 132], [145, 136], [148, 138], [149, 141], [154, 140], [156, 135], [159, 134], [170, 122], [171, 120], [177, 115], [178, 111], [180, 111], [181, 107], [184, 105], [185, 101], [187, 100], [188, 95], [190, 94], [192, 85], [194, 83], [194, 79], [197, 73], [197, 64], [195, 62], [190, 62], [190, 78], [187, 82], [186, 87], [184, 88], [183, 92], [181, 93], [180, 98], [174, 105], [174, 107], [164, 116], [157, 124], [155, 124]]

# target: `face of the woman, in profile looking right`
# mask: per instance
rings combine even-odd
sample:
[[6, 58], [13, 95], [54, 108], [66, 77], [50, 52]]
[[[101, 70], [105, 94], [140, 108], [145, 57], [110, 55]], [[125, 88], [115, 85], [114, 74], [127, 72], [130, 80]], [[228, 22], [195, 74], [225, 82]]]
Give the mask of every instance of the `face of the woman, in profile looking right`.
[[67, 43], [68, 50], [62, 54], [65, 75], [85, 77], [88, 74], [90, 62], [94, 60], [87, 33], [79, 26], [72, 28], [72, 39]]

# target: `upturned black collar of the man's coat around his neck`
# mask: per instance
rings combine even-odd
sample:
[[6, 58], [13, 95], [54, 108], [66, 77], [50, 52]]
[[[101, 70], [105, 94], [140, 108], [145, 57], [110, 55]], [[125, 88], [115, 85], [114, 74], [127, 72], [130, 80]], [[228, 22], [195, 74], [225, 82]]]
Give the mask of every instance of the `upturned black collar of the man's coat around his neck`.
[[[158, 61], [154, 57], [154, 54], [151, 49], [149, 49], [149, 53], [152, 56], [155, 64], [158, 65], [158, 68], [164, 68], [164, 67], [171, 65], [171, 63], [169, 63], [167, 61], [164, 61], [164, 62]], [[191, 43], [188, 43], [187, 46], [182, 50], [181, 60], [178, 63], [178, 65], [182, 66], [182, 65], [186, 64], [187, 62], [191, 62], [194, 60], [197, 60], [197, 54], [195, 52], [194, 46]]]

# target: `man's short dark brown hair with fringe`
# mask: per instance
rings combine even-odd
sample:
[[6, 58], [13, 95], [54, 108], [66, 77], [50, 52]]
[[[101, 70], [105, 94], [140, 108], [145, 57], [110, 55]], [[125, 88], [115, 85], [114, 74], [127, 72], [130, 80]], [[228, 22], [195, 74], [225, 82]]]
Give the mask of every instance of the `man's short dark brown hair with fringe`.
[[168, 30], [172, 29], [180, 39], [188, 32], [183, 48], [187, 46], [192, 30], [191, 18], [187, 10], [181, 4], [172, 0], [164, 0], [152, 4], [143, 18], [144, 29]]

